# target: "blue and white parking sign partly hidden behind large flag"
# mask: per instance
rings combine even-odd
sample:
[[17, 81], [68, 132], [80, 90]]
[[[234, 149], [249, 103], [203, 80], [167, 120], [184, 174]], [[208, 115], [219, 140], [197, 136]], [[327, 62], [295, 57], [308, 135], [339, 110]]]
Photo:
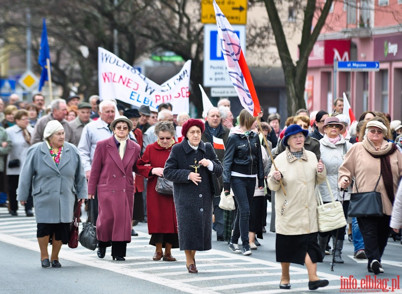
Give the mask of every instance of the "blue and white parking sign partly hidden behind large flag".
[[[246, 56], [246, 26], [232, 25], [239, 37], [243, 54]], [[227, 71], [218, 27], [204, 25], [204, 87], [229, 87], [233, 85]]]

